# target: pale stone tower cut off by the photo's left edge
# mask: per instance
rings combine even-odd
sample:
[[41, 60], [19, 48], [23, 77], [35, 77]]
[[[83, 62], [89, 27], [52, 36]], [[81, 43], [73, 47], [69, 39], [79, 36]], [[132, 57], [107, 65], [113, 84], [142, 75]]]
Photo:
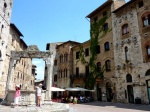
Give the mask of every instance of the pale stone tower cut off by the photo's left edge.
[[7, 60], [10, 54], [7, 53], [10, 18], [12, 13], [13, 0], [0, 0], [0, 97], [5, 93], [5, 86], [8, 74]]

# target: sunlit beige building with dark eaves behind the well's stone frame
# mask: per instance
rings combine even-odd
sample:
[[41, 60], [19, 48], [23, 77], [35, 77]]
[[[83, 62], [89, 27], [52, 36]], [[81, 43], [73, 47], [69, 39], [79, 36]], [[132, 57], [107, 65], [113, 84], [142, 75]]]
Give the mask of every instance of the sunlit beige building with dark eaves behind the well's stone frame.
[[[23, 36], [19, 29], [14, 25], [10, 24], [10, 38], [8, 40], [7, 54], [9, 56], [11, 51], [23, 51], [28, 48], [26, 43], [20, 37]], [[9, 59], [7, 60], [9, 65]], [[34, 87], [34, 74], [32, 74], [32, 59], [30, 58], [21, 58], [14, 64], [13, 67], [13, 78], [12, 78], [12, 87], [15, 88], [15, 85], [20, 85], [21, 89], [32, 89]]]

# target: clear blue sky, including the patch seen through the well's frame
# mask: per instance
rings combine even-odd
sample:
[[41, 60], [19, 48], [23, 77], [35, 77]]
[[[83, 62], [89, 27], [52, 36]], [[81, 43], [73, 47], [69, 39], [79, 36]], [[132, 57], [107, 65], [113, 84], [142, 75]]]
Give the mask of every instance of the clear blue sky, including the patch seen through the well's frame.
[[[126, 0], [129, 1], [129, 0]], [[90, 38], [90, 23], [85, 18], [106, 0], [14, 0], [11, 22], [24, 35], [27, 45], [68, 40], [84, 42]], [[37, 78], [43, 79], [43, 62], [35, 60]]]

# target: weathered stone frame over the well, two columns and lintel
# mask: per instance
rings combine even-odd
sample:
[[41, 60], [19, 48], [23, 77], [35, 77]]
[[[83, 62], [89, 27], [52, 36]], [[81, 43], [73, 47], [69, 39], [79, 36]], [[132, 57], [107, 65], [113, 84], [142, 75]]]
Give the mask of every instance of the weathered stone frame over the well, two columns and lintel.
[[42, 58], [46, 65], [48, 66], [48, 74], [47, 79], [49, 79], [47, 83], [47, 97], [51, 100], [51, 87], [52, 87], [52, 66], [53, 62], [51, 61], [51, 52], [39, 51], [36, 45], [29, 46], [25, 51], [11, 51], [10, 63], [9, 63], [9, 70], [7, 76], [7, 83], [6, 83], [6, 92], [7, 90], [11, 90], [11, 81], [12, 81], [12, 69], [15, 66], [16, 62], [20, 60], [20, 58]]

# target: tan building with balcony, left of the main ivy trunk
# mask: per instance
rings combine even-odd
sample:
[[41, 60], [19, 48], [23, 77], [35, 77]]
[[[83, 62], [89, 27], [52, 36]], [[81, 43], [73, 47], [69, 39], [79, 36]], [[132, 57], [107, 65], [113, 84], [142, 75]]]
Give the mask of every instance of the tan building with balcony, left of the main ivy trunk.
[[[73, 73], [70, 76], [71, 80], [71, 87], [81, 87], [85, 88], [85, 78], [89, 75], [89, 66], [83, 64], [81, 61], [79, 61], [79, 55], [80, 55], [80, 46], [83, 47], [83, 50], [85, 51], [85, 60], [89, 61], [90, 58], [90, 41], [83, 42], [77, 46], [74, 46], [72, 48], [73, 52]], [[78, 91], [76, 94], [84, 94], [84, 92]], [[89, 93], [86, 93], [87, 96], [89, 96]]]

